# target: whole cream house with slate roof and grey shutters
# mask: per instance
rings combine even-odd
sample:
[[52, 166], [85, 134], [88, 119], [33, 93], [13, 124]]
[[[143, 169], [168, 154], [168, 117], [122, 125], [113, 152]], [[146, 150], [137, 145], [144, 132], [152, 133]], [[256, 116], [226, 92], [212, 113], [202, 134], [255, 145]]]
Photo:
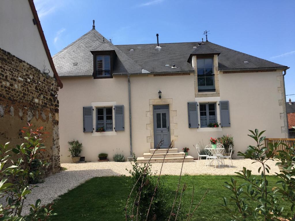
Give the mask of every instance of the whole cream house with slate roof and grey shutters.
[[210, 137], [231, 134], [237, 153], [251, 142], [248, 129], [288, 136], [287, 66], [209, 41], [159, 43], [156, 36], [156, 44], [114, 45], [93, 21], [89, 32], [53, 56], [64, 84], [62, 162], [71, 161], [71, 139], [83, 143], [86, 161], [100, 152], [110, 159], [134, 152], [144, 162], [162, 138], [162, 148], [170, 142], [176, 152], [189, 147], [191, 161], [193, 144], [207, 145]]

